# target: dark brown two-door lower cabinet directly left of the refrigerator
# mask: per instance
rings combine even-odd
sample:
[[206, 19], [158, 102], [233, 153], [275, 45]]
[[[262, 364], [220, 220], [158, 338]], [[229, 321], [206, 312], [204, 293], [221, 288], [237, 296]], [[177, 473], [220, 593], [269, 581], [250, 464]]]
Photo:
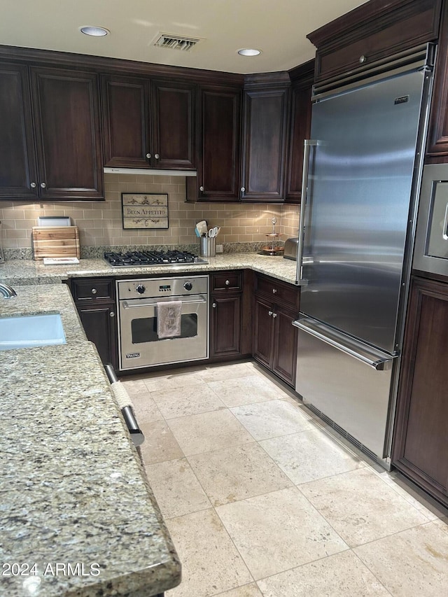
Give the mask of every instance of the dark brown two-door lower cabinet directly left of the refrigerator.
[[293, 321], [299, 307], [298, 288], [267, 276], [257, 276], [253, 358], [290, 386], [295, 386], [297, 328]]

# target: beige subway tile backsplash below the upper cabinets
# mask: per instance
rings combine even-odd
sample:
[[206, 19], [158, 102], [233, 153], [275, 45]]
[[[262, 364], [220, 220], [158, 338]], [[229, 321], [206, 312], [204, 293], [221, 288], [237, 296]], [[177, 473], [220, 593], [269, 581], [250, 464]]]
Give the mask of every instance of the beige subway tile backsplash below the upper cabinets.
[[[38, 216], [70, 216], [79, 228], [81, 246], [199, 244], [195, 236], [199, 220], [221, 226], [221, 244], [265, 242], [265, 234], [272, 232], [272, 218], [277, 219], [281, 240], [297, 235], [296, 205], [186, 203], [183, 176], [104, 174], [104, 185], [104, 202], [0, 202], [3, 247], [30, 248], [31, 228], [37, 225]], [[123, 230], [122, 192], [167, 193], [169, 229]]]

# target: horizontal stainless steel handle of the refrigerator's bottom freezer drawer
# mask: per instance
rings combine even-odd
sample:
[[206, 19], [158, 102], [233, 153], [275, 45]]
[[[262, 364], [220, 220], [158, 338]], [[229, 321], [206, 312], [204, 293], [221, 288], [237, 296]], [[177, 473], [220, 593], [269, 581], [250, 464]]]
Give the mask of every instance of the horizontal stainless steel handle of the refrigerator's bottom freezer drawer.
[[342, 351], [343, 353], [360, 360], [361, 363], [376, 369], [377, 371], [384, 371], [391, 369], [393, 360], [398, 357], [384, 353], [378, 349], [373, 349], [371, 346], [360, 342], [354, 338], [328, 328], [323, 323], [312, 319], [311, 317], [302, 316], [293, 321], [295, 328], [307, 332], [307, 334], [322, 340], [333, 348]]

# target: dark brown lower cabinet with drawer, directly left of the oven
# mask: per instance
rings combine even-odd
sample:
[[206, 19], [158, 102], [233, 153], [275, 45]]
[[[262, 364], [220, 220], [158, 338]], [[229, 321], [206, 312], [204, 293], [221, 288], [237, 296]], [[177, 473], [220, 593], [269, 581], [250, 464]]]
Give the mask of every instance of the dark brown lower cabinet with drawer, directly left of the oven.
[[71, 293], [87, 339], [97, 347], [104, 365], [111, 363], [116, 367], [118, 332], [113, 279], [73, 279]]

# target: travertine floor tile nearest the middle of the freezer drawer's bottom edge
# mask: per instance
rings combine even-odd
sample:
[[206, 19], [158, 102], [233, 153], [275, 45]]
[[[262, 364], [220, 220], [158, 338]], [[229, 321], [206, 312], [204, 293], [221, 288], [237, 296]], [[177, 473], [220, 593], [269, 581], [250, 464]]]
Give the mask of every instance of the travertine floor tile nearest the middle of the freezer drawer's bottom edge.
[[317, 428], [262, 440], [260, 445], [296, 485], [365, 466], [324, 430]]

